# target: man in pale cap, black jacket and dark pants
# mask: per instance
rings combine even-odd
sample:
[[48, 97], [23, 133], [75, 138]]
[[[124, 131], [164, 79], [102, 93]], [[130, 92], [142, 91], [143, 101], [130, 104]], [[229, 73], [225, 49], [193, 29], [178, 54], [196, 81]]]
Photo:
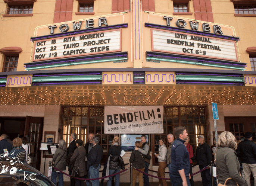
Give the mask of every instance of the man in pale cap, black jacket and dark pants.
[[[199, 169], [210, 165], [212, 161], [212, 151], [209, 145], [205, 143], [204, 135], [199, 135], [198, 137], [199, 145], [196, 148], [196, 161], [199, 164]], [[212, 185], [212, 176], [210, 172], [210, 167], [201, 172], [202, 183], [203, 186], [211, 186]]]

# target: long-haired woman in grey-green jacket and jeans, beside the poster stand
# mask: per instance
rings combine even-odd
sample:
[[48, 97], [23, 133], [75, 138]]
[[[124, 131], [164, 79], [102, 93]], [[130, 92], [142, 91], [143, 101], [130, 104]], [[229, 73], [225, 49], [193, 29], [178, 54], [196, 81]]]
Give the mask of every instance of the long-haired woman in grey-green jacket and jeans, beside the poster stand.
[[[66, 170], [66, 158], [67, 158], [67, 145], [65, 140], [59, 141], [59, 148], [56, 149], [53, 155], [53, 166], [61, 171]], [[63, 173], [53, 169], [51, 173], [51, 180], [55, 185], [57, 185], [57, 176], [59, 175], [59, 186], [63, 186]]]

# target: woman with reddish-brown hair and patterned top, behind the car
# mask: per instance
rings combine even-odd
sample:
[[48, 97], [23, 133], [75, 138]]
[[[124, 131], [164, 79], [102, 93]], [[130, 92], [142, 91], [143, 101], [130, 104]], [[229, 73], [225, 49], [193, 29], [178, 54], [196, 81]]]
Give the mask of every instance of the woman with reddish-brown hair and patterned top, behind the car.
[[22, 147], [22, 140], [21, 138], [15, 138], [13, 141], [13, 149], [9, 153], [8, 157], [10, 158], [18, 158], [20, 162], [26, 161], [26, 151]]

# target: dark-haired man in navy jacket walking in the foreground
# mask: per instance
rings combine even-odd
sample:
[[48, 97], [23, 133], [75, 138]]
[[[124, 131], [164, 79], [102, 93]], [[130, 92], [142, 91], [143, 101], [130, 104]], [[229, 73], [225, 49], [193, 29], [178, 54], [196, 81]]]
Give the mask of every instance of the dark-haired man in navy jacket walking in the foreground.
[[187, 147], [184, 142], [187, 138], [187, 131], [184, 126], [174, 129], [176, 140], [171, 147], [171, 170], [170, 179], [172, 186], [190, 186], [190, 162]]

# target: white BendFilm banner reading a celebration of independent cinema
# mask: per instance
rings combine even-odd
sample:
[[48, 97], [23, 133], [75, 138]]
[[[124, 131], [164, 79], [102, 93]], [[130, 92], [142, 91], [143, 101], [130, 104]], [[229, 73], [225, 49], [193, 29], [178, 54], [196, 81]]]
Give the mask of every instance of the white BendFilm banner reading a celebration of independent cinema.
[[163, 106], [105, 106], [105, 134], [162, 134]]

